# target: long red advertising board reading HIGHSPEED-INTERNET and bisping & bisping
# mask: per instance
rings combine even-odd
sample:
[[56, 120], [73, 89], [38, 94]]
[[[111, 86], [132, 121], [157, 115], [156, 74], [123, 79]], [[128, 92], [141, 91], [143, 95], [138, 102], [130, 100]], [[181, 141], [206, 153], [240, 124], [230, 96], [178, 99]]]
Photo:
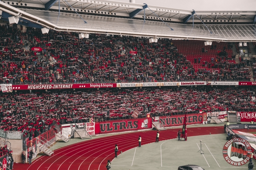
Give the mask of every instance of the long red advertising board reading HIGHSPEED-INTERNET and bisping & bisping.
[[82, 88], [115, 88], [116, 83], [87, 83], [87, 84], [13, 84], [12, 90], [43, 90], [43, 89], [82, 89]]

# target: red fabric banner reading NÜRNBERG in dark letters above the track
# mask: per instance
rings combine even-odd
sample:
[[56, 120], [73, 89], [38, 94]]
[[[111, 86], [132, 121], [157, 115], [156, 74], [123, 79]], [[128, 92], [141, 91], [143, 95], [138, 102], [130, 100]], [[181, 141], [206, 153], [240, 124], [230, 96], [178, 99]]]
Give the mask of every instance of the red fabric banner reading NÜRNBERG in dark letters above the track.
[[[175, 116], [160, 116], [160, 123], [163, 124], [164, 127], [171, 126], [182, 126], [185, 115], [175, 115]], [[203, 114], [189, 114], [187, 115], [187, 125], [190, 124], [202, 124]]]

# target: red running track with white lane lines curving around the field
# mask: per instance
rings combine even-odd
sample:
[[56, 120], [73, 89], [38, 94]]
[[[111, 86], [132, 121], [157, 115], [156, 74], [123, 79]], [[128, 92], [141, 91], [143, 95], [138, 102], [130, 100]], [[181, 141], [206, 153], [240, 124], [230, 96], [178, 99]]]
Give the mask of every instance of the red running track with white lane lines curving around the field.
[[[160, 131], [159, 140], [167, 140], [177, 137], [179, 129]], [[192, 127], [188, 128], [189, 136], [209, 135], [224, 133], [223, 126]], [[139, 131], [123, 133], [108, 137], [86, 140], [84, 142], [65, 146], [54, 151], [50, 157], [44, 155], [31, 165], [14, 164], [22, 170], [101, 170], [106, 169], [107, 161], [115, 156], [115, 144], [119, 151], [125, 152], [138, 146], [138, 138], [141, 136], [141, 145], [155, 142], [156, 131]], [[189, 138], [188, 138], [189, 140]], [[143, 147], [143, 146], [141, 146]], [[119, 152], [120, 153], [120, 152]], [[118, 154], [119, 154], [118, 153]]]

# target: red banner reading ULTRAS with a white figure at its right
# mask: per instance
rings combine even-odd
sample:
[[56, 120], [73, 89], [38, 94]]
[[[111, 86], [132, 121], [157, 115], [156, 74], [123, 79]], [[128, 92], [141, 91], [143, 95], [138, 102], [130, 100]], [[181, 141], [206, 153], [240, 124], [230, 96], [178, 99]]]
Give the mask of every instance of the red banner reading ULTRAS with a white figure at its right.
[[[115, 133], [123, 131], [138, 131], [142, 129], [152, 128], [151, 118], [136, 118], [127, 120], [113, 120], [100, 122], [100, 134], [102, 133]], [[97, 124], [98, 125], [98, 124]]]

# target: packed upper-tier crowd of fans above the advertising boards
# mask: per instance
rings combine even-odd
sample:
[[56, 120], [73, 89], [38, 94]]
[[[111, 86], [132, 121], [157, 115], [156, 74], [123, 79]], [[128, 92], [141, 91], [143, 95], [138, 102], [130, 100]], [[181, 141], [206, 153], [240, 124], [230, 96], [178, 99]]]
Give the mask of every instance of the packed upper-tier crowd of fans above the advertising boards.
[[[227, 58], [225, 49], [212, 62], [200, 63], [198, 56], [203, 67], [197, 67], [175, 46], [177, 40], [149, 43], [143, 37], [101, 34], [78, 39], [75, 32], [42, 34], [27, 27], [24, 33], [8, 25], [0, 31], [0, 83], [221, 81], [250, 80], [251, 76], [247, 64]], [[24, 36], [28, 43], [23, 42]], [[43, 48], [43, 56], [29, 50], [35, 46]]]

